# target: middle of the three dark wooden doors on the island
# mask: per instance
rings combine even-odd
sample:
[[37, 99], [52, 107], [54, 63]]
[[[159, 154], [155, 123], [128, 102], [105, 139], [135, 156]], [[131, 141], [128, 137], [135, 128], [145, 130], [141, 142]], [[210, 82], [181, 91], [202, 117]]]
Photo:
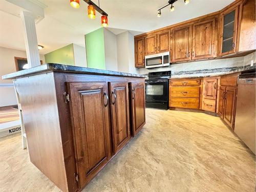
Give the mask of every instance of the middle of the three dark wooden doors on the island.
[[110, 82], [114, 153], [131, 139], [127, 82]]

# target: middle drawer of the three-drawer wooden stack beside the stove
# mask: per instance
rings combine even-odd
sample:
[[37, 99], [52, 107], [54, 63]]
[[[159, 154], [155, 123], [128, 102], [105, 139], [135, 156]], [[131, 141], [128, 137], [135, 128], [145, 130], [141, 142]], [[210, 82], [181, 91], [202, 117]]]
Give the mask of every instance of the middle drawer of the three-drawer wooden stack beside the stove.
[[199, 87], [170, 87], [170, 97], [193, 97], [199, 98]]

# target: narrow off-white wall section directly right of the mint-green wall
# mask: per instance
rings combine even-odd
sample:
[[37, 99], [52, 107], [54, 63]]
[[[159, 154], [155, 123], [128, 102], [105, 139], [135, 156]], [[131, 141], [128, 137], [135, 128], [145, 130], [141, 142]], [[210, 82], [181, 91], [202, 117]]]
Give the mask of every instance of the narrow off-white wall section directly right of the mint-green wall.
[[117, 38], [114, 33], [104, 28], [105, 68], [118, 71], [117, 65]]

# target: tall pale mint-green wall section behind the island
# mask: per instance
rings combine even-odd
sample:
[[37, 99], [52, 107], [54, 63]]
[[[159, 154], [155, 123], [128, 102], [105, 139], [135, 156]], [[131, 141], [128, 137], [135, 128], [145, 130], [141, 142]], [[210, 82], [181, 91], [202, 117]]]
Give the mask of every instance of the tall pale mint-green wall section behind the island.
[[86, 34], [87, 67], [105, 69], [104, 31], [97, 29]]

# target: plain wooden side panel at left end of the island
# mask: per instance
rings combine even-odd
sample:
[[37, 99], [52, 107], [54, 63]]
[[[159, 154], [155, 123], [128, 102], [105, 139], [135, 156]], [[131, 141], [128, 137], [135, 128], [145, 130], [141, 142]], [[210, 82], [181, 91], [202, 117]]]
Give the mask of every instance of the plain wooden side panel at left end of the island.
[[14, 80], [23, 110], [30, 161], [68, 191], [53, 72]]

